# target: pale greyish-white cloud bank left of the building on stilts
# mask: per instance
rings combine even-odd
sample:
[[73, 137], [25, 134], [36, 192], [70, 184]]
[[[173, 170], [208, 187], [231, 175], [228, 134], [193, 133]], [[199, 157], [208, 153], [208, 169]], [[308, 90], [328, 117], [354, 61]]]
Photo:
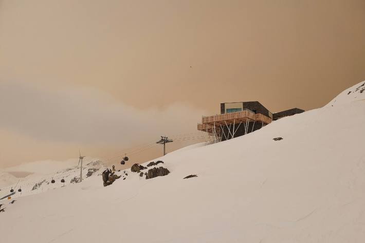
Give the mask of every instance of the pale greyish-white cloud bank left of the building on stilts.
[[2, 82], [0, 114], [0, 128], [31, 138], [128, 146], [160, 135], [194, 132], [203, 113], [179, 104], [163, 110], [140, 110], [89, 88], [50, 89]]

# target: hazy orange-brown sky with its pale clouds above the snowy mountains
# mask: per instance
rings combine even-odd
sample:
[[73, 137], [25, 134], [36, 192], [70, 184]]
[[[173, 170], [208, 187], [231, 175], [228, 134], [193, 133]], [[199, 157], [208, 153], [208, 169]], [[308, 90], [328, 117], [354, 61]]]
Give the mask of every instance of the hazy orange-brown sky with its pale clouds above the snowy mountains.
[[364, 26], [362, 0], [0, 0], [0, 167], [194, 133], [221, 102], [320, 107], [365, 80]]

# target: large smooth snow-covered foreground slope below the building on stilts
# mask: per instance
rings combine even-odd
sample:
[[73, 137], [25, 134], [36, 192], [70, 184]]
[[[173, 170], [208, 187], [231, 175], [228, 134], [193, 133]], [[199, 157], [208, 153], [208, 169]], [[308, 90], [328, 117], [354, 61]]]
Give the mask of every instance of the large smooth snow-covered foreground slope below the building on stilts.
[[127, 172], [104, 188], [95, 176], [1, 202], [2, 242], [364, 242], [363, 99], [170, 153], [164, 177]]

